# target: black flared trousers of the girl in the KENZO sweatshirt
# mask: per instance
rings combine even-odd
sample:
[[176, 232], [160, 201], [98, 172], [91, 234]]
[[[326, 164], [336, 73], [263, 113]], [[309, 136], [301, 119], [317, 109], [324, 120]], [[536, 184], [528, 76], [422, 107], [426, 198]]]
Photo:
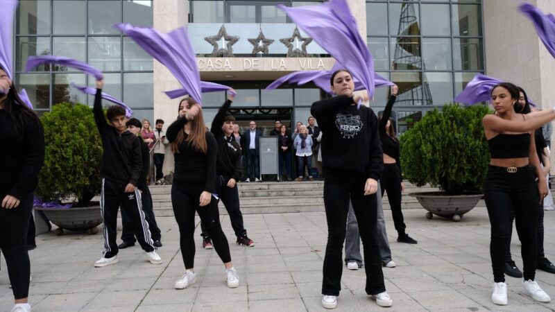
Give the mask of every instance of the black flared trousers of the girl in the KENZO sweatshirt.
[[327, 220], [322, 294], [339, 295], [343, 273], [343, 241], [349, 211], [349, 199], [359, 223], [364, 247], [366, 293], [386, 291], [382, 256], [377, 241], [377, 195], [364, 196], [366, 177], [361, 173], [327, 169], [324, 181], [324, 205]]

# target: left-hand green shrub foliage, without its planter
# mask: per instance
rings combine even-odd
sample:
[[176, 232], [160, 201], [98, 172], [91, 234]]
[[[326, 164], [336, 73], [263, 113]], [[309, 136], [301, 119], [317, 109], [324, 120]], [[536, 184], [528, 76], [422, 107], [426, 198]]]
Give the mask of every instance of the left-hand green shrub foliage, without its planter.
[[46, 150], [37, 195], [41, 200], [74, 196], [83, 207], [100, 193], [102, 143], [87, 105], [60, 103], [41, 119]]

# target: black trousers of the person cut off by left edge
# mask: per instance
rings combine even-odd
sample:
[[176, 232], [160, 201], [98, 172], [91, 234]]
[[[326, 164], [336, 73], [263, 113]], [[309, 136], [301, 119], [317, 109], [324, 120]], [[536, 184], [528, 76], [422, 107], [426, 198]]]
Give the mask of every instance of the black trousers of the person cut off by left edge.
[[[6, 194], [1, 194], [1, 199]], [[19, 198], [17, 208], [0, 208], [0, 249], [6, 258], [8, 276], [15, 299], [29, 295], [31, 263], [27, 253], [27, 229], [33, 209], [33, 192]]]

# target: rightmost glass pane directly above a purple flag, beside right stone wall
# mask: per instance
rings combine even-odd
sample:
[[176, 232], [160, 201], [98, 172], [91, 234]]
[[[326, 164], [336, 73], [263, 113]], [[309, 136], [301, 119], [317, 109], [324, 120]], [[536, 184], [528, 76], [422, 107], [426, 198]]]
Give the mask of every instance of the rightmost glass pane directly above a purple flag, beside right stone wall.
[[455, 38], [453, 40], [453, 61], [455, 70], [484, 70], [481, 39]]

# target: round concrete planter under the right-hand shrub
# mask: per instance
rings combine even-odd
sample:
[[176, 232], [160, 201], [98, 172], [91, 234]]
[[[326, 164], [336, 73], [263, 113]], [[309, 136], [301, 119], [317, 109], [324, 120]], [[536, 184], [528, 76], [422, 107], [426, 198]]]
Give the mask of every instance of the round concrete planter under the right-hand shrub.
[[464, 195], [446, 195], [444, 192], [410, 193], [427, 211], [426, 218], [433, 215], [452, 218], [458, 222], [468, 211], [474, 209], [484, 194], [468, 193]]

